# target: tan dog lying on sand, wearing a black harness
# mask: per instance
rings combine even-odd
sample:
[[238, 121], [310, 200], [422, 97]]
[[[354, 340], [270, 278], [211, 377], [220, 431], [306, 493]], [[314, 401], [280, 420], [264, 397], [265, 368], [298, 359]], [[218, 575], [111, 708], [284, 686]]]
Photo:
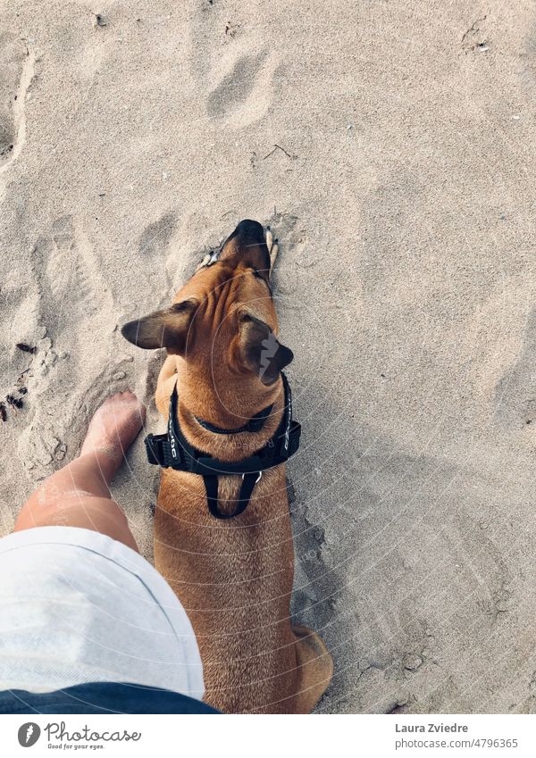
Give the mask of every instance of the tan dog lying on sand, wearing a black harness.
[[[156, 405], [167, 418], [177, 384], [182, 434], [221, 461], [254, 454], [283, 416], [281, 369], [293, 356], [276, 337], [269, 285], [276, 254], [269, 232], [265, 239], [260, 224], [242, 221], [170, 308], [122, 329], [135, 345], [167, 348]], [[214, 433], [197, 421], [239, 429], [270, 405], [260, 431]], [[219, 510], [233, 512], [242, 478], [217, 481]], [[264, 471], [246, 510], [226, 521], [208, 511], [202, 476], [163, 469], [155, 566], [195, 629], [207, 703], [223, 712], [314, 708], [331, 680], [332, 662], [320, 637], [290, 625], [294, 550], [284, 464]]]

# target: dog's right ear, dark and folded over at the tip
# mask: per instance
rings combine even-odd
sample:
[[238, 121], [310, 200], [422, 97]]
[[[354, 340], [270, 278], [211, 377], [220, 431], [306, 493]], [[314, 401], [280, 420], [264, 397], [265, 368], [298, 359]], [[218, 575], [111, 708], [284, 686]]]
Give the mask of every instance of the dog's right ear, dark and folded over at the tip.
[[269, 386], [279, 378], [281, 370], [289, 365], [294, 354], [281, 345], [272, 329], [250, 312], [240, 310], [238, 358], [249, 371]]

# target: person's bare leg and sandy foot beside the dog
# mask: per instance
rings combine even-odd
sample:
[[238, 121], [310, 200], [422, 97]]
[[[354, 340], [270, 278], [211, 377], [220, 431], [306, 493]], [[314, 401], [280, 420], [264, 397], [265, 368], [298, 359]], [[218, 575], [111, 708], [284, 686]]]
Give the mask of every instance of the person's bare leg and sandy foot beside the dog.
[[66, 526], [93, 529], [138, 550], [108, 485], [145, 421], [131, 392], [108, 397], [93, 416], [80, 455], [38, 487], [22, 506], [15, 531]]

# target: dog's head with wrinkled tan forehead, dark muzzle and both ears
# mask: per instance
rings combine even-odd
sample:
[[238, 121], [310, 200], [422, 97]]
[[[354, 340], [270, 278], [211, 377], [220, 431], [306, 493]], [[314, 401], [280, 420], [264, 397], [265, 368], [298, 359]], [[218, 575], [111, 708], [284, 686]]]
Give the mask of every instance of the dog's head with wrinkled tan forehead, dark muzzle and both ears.
[[[264, 229], [241, 221], [219, 255], [202, 266], [162, 311], [130, 321], [123, 337], [138, 347], [165, 347], [206, 385], [234, 381], [272, 386], [293, 358], [277, 338]], [[208, 373], [207, 373], [208, 372]]]

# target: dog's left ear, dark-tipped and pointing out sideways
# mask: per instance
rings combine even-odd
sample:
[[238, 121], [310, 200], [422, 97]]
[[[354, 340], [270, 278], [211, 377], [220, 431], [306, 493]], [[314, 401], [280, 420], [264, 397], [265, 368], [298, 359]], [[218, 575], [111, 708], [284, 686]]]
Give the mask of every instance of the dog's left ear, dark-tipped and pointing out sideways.
[[190, 297], [171, 308], [155, 311], [143, 319], [129, 321], [121, 328], [121, 334], [132, 345], [155, 350], [166, 347], [168, 353], [182, 355], [186, 351], [188, 331], [199, 302]]

